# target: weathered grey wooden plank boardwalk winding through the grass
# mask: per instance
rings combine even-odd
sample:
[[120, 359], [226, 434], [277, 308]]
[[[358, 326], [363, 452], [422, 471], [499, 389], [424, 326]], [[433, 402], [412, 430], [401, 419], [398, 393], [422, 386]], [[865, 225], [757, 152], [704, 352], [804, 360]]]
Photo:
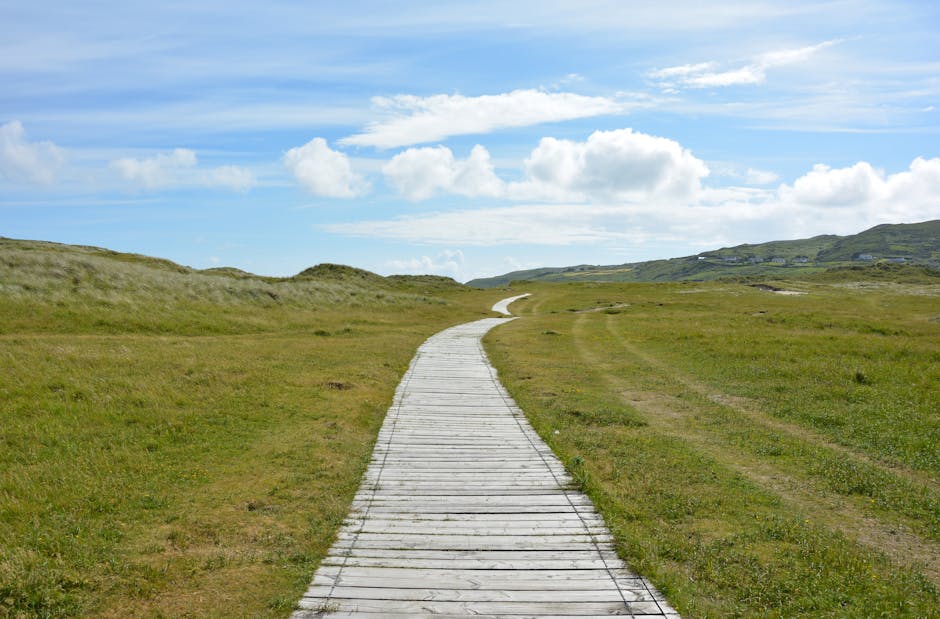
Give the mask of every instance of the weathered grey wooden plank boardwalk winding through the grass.
[[295, 619], [678, 619], [497, 380], [480, 338], [507, 320], [418, 349]]

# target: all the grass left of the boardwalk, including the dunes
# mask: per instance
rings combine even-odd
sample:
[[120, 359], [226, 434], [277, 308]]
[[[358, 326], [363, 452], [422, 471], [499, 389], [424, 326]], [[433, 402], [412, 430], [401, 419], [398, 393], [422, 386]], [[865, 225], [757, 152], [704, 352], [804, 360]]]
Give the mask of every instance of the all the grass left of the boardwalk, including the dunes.
[[286, 617], [417, 346], [504, 291], [0, 242], [0, 617]]

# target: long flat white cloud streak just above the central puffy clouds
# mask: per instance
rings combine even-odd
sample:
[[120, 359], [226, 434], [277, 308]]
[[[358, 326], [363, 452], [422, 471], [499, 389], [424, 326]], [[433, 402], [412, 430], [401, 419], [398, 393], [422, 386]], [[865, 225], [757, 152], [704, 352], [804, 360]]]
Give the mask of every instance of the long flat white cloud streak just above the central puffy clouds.
[[391, 117], [367, 125], [363, 132], [340, 140], [341, 144], [395, 148], [453, 135], [619, 114], [627, 109], [626, 104], [606, 97], [531, 89], [479, 97], [375, 97], [373, 103]]

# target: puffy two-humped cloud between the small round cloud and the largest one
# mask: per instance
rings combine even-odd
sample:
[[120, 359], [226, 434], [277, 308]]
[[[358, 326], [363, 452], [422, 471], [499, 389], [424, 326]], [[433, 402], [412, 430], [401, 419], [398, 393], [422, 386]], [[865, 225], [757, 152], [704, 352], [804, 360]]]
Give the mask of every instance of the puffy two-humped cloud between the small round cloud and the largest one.
[[464, 160], [455, 159], [446, 146], [409, 148], [392, 157], [382, 172], [401, 195], [411, 200], [424, 200], [438, 192], [471, 197], [496, 197], [504, 192], [489, 152], [479, 144]]

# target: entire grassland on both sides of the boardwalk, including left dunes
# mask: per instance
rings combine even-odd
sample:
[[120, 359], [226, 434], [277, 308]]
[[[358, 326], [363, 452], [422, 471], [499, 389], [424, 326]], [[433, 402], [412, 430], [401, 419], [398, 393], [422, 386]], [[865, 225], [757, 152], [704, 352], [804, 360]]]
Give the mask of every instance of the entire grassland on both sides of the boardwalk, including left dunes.
[[686, 617], [940, 615], [940, 282], [200, 272], [0, 240], [0, 617], [286, 617], [446, 326]]

